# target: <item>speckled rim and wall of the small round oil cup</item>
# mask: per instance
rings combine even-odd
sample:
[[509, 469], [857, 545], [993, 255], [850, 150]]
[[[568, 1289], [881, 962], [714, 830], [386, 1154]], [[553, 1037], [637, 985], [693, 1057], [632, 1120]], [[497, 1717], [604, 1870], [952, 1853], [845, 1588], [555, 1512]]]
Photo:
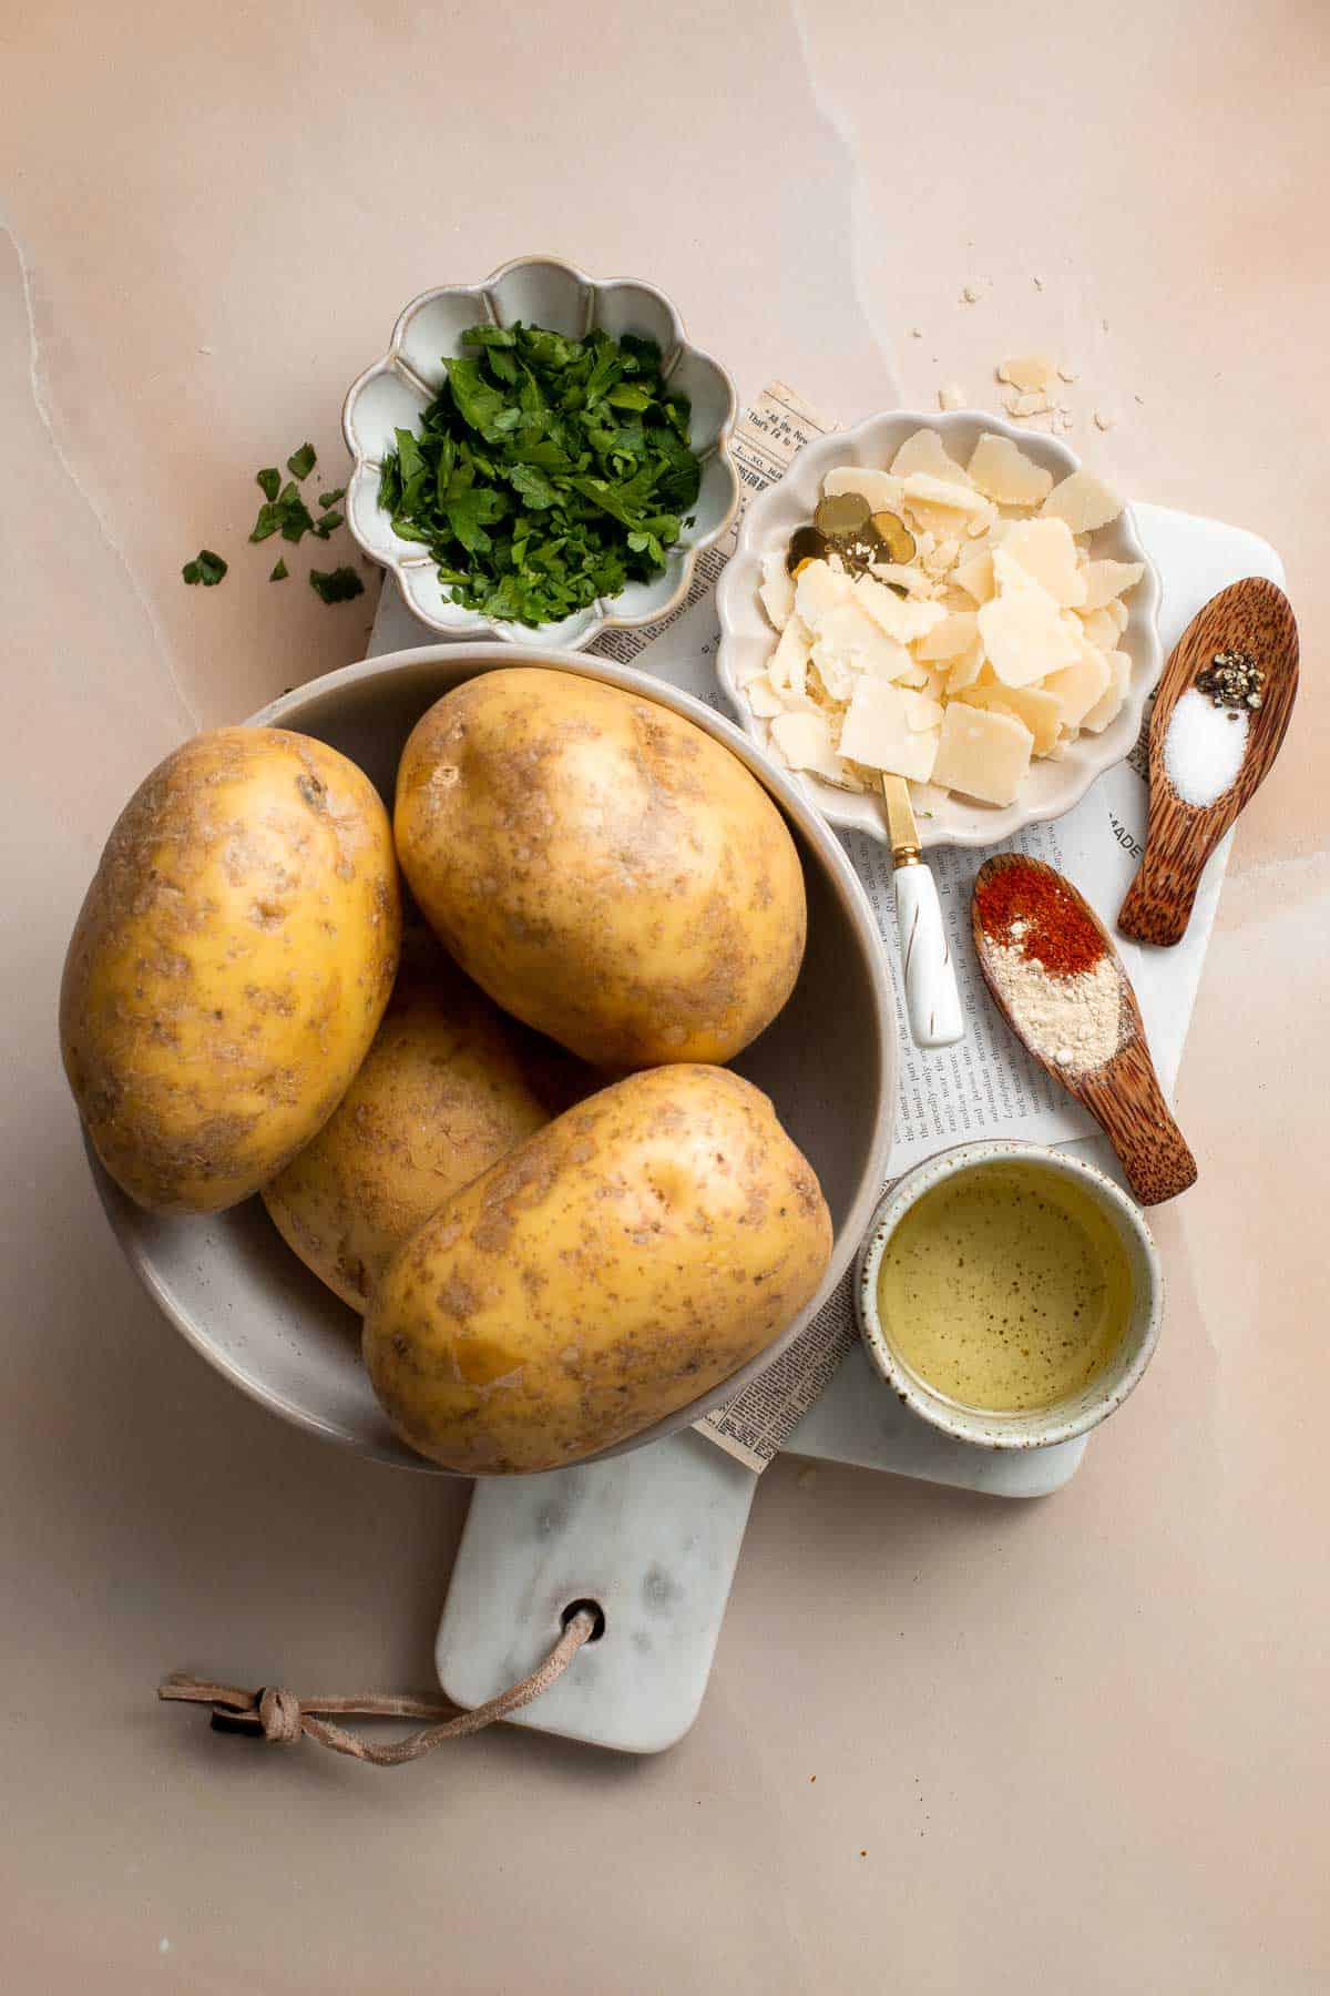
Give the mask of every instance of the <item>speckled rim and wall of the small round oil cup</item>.
[[[957, 1407], [953, 1401], [933, 1393], [917, 1373], [897, 1359], [881, 1327], [877, 1313], [877, 1269], [891, 1234], [903, 1216], [925, 1192], [959, 1172], [969, 1172], [983, 1164], [1039, 1164], [1059, 1178], [1075, 1180], [1099, 1204], [1107, 1220], [1117, 1228], [1127, 1249], [1133, 1277], [1133, 1311], [1123, 1347], [1109, 1371], [1093, 1379], [1083, 1393], [1073, 1399], [1041, 1407], [1037, 1413], [985, 1413], [981, 1409]], [[1141, 1210], [1127, 1198], [1121, 1186], [1099, 1172], [1083, 1158], [1073, 1158], [1065, 1150], [1045, 1150], [1041, 1144], [959, 1144], [943, 1150], [937, 1158], [905, 1172], [885, 1196], [869, 1224], [859, 1263], [855, 1269], [855, 1311], [859, 1333], [869, 1359], [887, 1381], [891, 1391], [917, 1415], [939, 1427], [957, 1441], [973, 1441], [981, 1449], [1047, 1449], [1057, 1441], [1073, 1441], [1091, 1427], [1099, 1427], [1123, 1405], [1127, 1395], [1139, 1385], [1145, 1367], [1155, 1355], [1159, 1327], [1164, 1315], [1164, 1277], [1151, 1230]]]

